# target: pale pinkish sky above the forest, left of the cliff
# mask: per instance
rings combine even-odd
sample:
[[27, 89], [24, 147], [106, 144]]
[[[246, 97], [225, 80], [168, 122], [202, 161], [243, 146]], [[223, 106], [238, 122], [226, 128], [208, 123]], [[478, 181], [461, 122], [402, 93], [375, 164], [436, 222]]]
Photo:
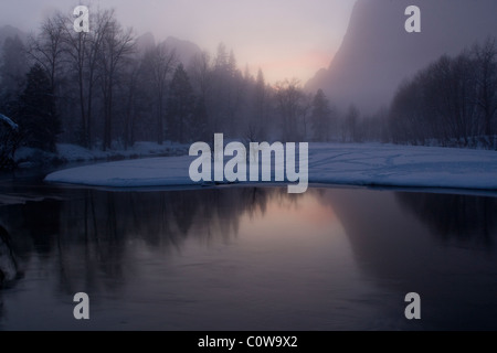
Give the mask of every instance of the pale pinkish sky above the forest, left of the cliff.
[[[55, 10], [82, 1], [1, 0], [0, 25], [36, 30]], [[82, 3], [87, 4], [87, 1]], [[92, 0], [89, 8], [115, 8], [124, 26], [157, 40], [176, 36], [215, 53], [232, 49], [241, 69], [264, 71], [267, 82], [303, 84], [328, 67], [347, 30], [355, 0]]]

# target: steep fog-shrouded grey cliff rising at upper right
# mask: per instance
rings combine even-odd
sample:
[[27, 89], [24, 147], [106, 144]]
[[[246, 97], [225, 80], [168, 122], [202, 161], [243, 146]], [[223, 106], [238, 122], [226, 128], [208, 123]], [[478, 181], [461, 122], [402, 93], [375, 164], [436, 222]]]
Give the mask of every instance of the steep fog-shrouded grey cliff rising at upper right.
[[[408, 33], [409, 6], [421, 9], [421, 33]], [[340, 109], [364, 114], [389, 105], [399, 84], [443, 54], [497, 38], [495, 0], [358, 0], [330, 66], [307, 83]]]

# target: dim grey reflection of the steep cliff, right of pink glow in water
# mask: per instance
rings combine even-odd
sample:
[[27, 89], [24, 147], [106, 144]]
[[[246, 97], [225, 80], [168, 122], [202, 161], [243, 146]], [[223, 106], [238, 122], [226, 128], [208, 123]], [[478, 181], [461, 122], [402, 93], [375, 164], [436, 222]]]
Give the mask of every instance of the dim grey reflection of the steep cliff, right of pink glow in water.
[[366, 272], [401, 278], [416, 266], [423, 227], [399, 212], [393, 193], [338, 189], [325, 193], [321, 202], [334, 208]]

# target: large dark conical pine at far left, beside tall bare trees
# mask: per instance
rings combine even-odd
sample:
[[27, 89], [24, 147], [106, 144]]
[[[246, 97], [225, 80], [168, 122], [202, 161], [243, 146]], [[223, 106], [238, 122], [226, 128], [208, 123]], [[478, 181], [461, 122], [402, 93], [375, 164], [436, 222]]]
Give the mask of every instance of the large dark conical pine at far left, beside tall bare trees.
[[61, 122], [45, 71], [35, 64], [27, 75], [27, 87], [18, 99], [18, 121], [27, 146], [55, 152]]

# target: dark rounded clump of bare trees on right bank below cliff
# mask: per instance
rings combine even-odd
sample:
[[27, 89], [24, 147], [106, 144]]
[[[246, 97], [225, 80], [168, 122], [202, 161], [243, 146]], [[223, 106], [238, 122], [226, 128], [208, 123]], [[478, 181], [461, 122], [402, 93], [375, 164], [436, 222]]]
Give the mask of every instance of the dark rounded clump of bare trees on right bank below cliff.
[[405, 81], [390, 108], [392, 142], [497, 149], [497, 44], [443, 55]]

